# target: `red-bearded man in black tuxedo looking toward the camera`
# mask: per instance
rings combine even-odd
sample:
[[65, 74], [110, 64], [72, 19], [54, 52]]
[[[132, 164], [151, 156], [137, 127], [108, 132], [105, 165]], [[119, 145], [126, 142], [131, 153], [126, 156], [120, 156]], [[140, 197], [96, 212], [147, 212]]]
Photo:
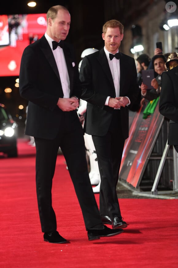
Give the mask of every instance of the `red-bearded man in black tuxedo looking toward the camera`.
[[99, 210], [102, 222], [113, 229], [126, 228], [116, 186], [125, 139], [129, 135], [129, 109], [139, 93], [135, 60], [118, 48], [123, 25], [110, 20], [103, 26], [104, 48], [83, 58], [80, 67], [82, 99], [87, 101], [84, 131], [92, 135], [101, 184]]

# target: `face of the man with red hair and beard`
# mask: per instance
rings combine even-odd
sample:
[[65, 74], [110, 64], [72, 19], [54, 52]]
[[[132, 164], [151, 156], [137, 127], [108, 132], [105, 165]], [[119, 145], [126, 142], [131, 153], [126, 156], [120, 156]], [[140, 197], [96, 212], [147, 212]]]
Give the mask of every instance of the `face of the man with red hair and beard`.
[[118, 52], [118, 48], [121, 44], [124, 34], [120, 33], [119, 28], [107, 28], [106, 34], [102, 34], [102, 38], [104, 40], [104, 44], [106, 49], [112, 53], [116, 54]]

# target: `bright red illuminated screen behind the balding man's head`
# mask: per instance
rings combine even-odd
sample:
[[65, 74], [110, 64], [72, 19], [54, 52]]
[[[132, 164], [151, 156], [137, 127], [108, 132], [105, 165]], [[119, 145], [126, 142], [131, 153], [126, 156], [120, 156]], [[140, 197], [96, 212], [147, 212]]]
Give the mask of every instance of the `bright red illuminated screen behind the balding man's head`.
[[[7, 27], [7, 23], [9, 27]], [[46, 31], [46, 14], [0, 15], [0, 76], [18, 76], [23, 50]], [[3, 46], [3, 37], [5, 46]], [[7, 36], [9, 44], [7, 44]], [[34, 40], [33, 40], [34, 38]]]

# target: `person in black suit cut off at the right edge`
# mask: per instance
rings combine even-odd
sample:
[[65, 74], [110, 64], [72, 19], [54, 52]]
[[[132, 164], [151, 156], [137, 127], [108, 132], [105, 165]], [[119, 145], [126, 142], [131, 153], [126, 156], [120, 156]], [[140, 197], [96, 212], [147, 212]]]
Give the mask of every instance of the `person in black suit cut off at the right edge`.
[[162, 74], [159, 102], [160, 114], [168, 118], [168, 144], [178, 152], [178, 66]]

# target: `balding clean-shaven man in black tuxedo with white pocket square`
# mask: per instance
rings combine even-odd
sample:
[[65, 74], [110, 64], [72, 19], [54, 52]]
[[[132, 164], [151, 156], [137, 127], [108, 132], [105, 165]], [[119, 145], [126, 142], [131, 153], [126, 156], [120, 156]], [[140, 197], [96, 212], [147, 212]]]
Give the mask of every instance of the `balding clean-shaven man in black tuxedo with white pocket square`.
[[[65, 243], [52, 208], [52, 178], [57, 152], [62, 150], [89, 240], [122, 233], [103, 225], [87, 168], [83, 128], [76, 108], [81, 84], [73, 46], [65, 42], [70, 14], [64, 6], [47, 12], [47, 30], [41, 39], [27, 46], [20, 66], [20, 95], [29, 101], [25, 134], [35, 138], [36, 190], [44, 241]], [[70, 197], [69, 197], [70, 198]], [[61, 219], [71, 228], [73, 217]]]

